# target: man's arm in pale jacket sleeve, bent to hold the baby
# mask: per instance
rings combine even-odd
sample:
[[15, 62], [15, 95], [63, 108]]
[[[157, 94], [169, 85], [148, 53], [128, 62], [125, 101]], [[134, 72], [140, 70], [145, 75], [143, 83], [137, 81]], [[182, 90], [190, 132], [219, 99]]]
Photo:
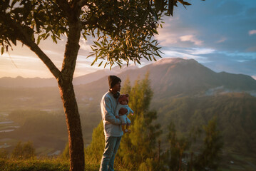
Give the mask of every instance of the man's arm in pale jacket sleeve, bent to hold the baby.
[[113, 125], [121, 125], [121, 120], [115, 117], [115, 114], [111, 110], [111, 101], [108, 97], [103, 99], [103, 107], [105, 108], [104, 111], [104, 120], [112, 123]]

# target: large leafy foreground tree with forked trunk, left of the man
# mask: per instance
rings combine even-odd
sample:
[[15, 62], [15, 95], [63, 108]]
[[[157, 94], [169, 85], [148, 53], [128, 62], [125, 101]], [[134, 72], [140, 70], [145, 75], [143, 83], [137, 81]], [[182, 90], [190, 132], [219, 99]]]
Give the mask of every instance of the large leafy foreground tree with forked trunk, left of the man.
[[[183, 6], [188, 2], [179, 0]], [[140, 63], [141, 58], [160, 56], [153, 39], [164, 15], [173, 15], [178, 0], [0, 0], [1, 53], [20, 41], [45, 63], [58, 81], [68, 128], [70, 170], [84, 170], [83, 135], [73, 90], [73, 73], [81, 35], [98, 37], [91, 46], [92, 65], [101, 60], [105, 66], [123, 61]], [[61, 71], [39, 48], [41, 40], [53, 42], [67, 36]]]

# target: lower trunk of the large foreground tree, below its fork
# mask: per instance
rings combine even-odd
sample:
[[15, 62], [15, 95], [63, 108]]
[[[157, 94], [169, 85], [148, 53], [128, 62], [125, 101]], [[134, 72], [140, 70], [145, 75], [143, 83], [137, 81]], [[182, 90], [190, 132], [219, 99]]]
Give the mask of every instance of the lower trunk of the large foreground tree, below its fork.
[[71, 81], [61, 80], [61, 82], [58, 81], [58, 88], [61, 93], [63, 108], [66, 115], [66, 125], [68, 127], [70, 170], [83, 171], [85, 164], [83, 133], [73, 84]]

